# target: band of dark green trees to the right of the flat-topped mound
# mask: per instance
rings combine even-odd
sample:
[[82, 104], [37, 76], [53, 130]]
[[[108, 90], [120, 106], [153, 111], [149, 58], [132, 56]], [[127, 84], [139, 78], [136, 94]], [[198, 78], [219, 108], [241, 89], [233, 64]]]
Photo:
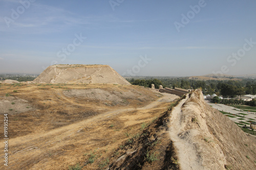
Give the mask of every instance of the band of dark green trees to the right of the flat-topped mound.
[[234, 96], [242, 96], [245, 94], [256, 94], [256, 80], [244, 79], [242, 81], [226, 80], [189, 80], [185, 78], [144, 78], [144, 79], [126, 79], [131, 84], [140, 85], [144, 87], [151, 87], [155, 84], [155, 88], [159, 85], [168, 88], [183, 88], [183, 89], [197, 89], [201, 88], [203, 94], [217, 94], [222, 95], [224, 98], [233, 98]]

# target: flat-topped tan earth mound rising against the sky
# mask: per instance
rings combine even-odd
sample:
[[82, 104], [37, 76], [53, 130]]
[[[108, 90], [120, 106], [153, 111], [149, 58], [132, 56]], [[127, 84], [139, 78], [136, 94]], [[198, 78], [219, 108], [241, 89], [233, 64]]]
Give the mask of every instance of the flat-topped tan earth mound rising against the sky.
[[129, 82], [108, 65], [52, 65], [44, 70], [33, 82], [130, 85]]

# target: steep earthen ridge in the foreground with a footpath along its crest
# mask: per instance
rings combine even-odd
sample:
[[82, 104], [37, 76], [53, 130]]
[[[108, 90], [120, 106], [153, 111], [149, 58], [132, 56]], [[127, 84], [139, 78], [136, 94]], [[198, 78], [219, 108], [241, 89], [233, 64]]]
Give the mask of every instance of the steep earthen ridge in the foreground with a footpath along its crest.
[[126, 142], [108, 169], [256, 169], [256, 145], [200, 90]]

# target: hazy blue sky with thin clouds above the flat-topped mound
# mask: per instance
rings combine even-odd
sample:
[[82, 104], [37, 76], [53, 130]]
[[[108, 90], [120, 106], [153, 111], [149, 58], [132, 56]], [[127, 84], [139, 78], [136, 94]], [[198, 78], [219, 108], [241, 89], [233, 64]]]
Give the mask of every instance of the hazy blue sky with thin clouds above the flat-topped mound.
[[256, 1], [0, 0], [0, 73], [256, 74]]

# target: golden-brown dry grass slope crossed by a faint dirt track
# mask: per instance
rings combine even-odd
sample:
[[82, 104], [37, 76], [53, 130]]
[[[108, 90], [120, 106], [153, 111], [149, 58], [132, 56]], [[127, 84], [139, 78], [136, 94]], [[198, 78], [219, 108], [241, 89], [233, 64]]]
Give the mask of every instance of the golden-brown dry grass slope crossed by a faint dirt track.
[[[106, 105], [106, 101], [70, 97], [63, 92], [76, 89], [97, 92], [97, 88], [118, 94], [120, 101], [108, 101]], [[145, 88], [125, 85], [1, 84], [0, 101], [11, 105], [13, 100], [25, 100], [25, 109], [30, 109], [19, 113], [21, 108], [14, 107], [23, 103], [15, 101], [14, 110], [5, 111], [9, 114], [11, 132], [9, 166], [12, 169], [68, 169], [78, 164], [82, 169], [103, 167], [112, 151], [130, 138], [125, 133], [135, 136], [142, 123], [167, 110], [168, 103], [154, 102], [161, 99], [159, 96]], [[93, 163], [87, 163], [90, 153], [95, 155]]]

